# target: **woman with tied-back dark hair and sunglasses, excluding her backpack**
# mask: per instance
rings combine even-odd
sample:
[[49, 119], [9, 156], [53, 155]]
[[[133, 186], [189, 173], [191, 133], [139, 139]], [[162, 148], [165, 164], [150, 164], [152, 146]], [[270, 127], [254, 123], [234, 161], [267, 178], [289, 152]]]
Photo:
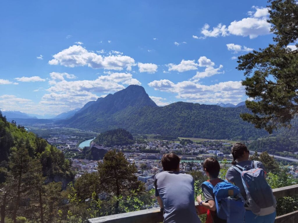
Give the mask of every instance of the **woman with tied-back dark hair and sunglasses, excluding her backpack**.
[[[241, 195], [243, 196], [244, 200], [247, 201], [246, 191], [243, 186], [242, 178], [240, 172], [243, 170], [244, 166], [252, 166], [253, 168], [260, 168], [263, 169], [265, 172], [264, 165], [260, 161], [252, 162], [249, 160], [249, 150], [243, 143], [235, 143], [232, 147], [232, 167], [230, 167], [226, 173], [226, 180], [231, 183], [234, 183], [236, 186], [240, 188]], [[254, 166], [254, 163], [257, 167]], [[237, 166], [236, 166], [237, 165]], [[240, 171], [238, 169], [240, 169]], [[265, 172], [266, 175], [266, 172]], [[274, 198], [273, 198], [274, 199]], [[275, 199], [274, 199], [275, 201]], [[270, 207], [267, 211], [266, 215], [255, 215], [249, 208], [249, 206], [245, 205], [245, 223], [274, 223], [276, 211], [275, 211], [275, 204]]]

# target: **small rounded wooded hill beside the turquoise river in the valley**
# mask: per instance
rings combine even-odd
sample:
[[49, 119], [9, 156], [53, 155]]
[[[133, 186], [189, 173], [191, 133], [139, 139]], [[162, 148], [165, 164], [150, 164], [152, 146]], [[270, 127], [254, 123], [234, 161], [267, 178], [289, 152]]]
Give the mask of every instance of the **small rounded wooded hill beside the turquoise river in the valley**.
[[94, 140], [96, 144], [103, 144], [104, 146], [111, 147], [114, 145], [130, 145], [134, 144], [134, 137], [125, 129], [114, 129], [99, 134]]

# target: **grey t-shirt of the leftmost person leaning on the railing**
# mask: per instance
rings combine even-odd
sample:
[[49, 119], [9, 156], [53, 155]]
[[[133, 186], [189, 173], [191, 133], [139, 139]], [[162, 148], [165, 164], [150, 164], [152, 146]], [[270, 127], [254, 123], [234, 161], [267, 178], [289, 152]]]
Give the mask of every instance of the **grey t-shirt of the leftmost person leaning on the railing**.
[[165, 223], [201, 223], [194, 193], [194, 180], [189, 174], [164, 171], [155, 175], [155, 196], [162, 199]]

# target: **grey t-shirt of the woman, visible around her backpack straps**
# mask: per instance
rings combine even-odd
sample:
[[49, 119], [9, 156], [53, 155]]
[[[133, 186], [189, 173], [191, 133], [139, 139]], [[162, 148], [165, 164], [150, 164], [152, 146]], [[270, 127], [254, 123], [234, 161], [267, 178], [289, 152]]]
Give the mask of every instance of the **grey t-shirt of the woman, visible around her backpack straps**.
[[[242, 162], [237, 163], [237, 165], [239, 165], [240, 167], [244, 167], [246, 165], [252, 165], [252, 161], [251, 160], [242, 161]], [[254, 165], [253, 165], [253, 167], [254, 167]], [[261, 168], [265, 171], [264, 165], [260, 161], [257, 161], [257, 167]], [[226, 172], [226, 179], [228, 179], [229, 181], [231, 181], [232, 183], [234, 183], [236, 186], [238, 186], [240, 188], [241, 195], [246, 200], [247, 196], [246, 196], [246, 192], [245, 192], [245, 189], [244, 189], [244, 186], [242, 183], [240, 173], [237, 170], [235, 170], [233, 167], [230, 167], [228, 169], [228, 171]]]

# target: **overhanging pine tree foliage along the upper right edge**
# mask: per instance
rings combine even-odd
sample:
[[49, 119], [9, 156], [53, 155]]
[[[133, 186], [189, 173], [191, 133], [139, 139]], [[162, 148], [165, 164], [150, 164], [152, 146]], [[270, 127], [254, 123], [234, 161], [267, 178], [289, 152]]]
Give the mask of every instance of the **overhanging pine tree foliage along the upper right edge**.
[[269, 133], [288, 126], [298, 107], [298, 54], [287, 46], [297, 44], [298, 5], [296, 0], [271, 0], [269, 6], [274, 44], [238, 57], [238, 70], [244, 70], [246, 95], [258, 101], [246, 101], [253, 114], [241, 114], [243, 120]]

